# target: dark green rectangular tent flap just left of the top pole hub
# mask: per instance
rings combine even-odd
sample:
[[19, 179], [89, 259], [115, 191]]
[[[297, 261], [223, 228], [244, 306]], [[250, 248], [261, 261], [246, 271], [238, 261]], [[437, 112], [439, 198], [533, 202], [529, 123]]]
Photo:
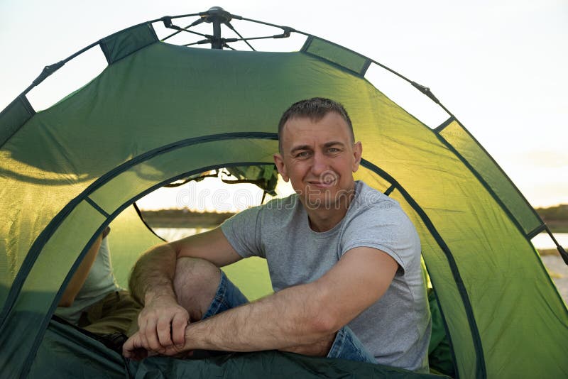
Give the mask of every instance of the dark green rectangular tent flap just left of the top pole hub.
[[100, 40], [109, 65], [155, 42], [158, 42], [158, 36], [150, 23], [132, 26]]

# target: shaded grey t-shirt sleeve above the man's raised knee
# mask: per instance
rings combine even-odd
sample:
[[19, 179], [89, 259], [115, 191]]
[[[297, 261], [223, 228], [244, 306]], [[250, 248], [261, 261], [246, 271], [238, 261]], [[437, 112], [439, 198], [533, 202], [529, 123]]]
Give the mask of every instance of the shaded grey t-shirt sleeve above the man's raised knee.
[[226, 219], [221, 230], [239, 256], [266, 258], [261, 248], [261, 207], [245, 209]]

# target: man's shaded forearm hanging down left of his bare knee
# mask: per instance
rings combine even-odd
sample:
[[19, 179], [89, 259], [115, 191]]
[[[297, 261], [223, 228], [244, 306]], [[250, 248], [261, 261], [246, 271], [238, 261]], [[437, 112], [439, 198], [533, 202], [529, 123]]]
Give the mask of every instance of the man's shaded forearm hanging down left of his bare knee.
[[152, 297], [173, 297], [173, 277], [175, 275], [175, 250], [169, 245], [160, 245], [138, 259], [132, 270], [129, 288], [132, 296], [141, 304]]

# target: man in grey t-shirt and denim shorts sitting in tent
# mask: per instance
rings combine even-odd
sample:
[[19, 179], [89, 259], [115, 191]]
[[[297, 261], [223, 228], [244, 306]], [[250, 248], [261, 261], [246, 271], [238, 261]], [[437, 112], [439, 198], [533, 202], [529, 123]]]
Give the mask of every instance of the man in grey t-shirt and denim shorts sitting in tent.
[[[131, 276], [145, 308], [124, 355], [278, 349], [426, 371], [420, 241], [395, 200], [354, 181], [362, 148], [343, 106], [299, 101], [278, 133], [274, 161], [297, 194], [148, 251]], [[275, 293], [248, 303], [219, 267], [255, 255]]]

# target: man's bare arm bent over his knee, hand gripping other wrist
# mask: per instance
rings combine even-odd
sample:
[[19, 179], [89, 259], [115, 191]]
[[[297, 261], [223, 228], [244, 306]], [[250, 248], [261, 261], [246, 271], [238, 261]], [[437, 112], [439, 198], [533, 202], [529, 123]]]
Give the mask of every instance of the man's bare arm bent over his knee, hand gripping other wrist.
[[129, 287], [133, 297], [144, 305], [138, 327], [145, 346], [171, 346], [185, 340], [189, 314], [178, 304], [173, 288], [175, 263], [182, 256], [203, 258], [218, 267], [241, 258], [219, 228], [144, 253], [133, 268]]

